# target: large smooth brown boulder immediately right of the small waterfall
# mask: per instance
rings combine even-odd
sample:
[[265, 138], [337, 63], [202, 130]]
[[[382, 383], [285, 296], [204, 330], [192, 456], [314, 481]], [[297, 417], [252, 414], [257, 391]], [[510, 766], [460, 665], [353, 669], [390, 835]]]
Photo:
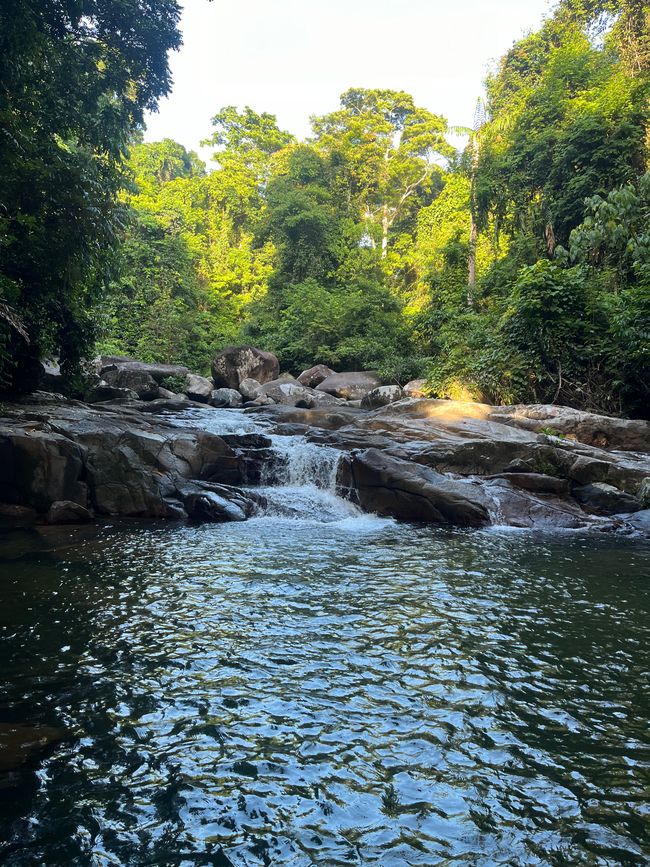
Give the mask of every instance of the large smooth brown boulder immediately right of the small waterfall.
[[353, 454], [340, 478], [363, 509], [405, 521], [461, 527], [490, 523], [480, 487], [377, 449]]

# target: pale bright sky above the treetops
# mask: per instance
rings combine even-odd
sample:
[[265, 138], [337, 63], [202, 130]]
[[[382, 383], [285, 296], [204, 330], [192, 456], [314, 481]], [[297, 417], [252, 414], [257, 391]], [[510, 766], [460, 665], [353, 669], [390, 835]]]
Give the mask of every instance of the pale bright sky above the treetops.
[[471, 126], [482, 82], [552, 0], [186, 0], [174, 86], [146, 141], [200, 148], [225, 105], [270, 112], [298, 138], [350, 87], [405, 90]]

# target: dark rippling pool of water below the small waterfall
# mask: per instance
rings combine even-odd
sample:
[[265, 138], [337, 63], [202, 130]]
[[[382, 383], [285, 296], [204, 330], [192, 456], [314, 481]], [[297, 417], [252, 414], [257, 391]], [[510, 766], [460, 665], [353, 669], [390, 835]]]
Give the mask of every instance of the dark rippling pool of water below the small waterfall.
[[3, 863], [648, 863], [644, 543], [85, 533], [4, 544], [0, 721], [73, 736], [0, 791]]

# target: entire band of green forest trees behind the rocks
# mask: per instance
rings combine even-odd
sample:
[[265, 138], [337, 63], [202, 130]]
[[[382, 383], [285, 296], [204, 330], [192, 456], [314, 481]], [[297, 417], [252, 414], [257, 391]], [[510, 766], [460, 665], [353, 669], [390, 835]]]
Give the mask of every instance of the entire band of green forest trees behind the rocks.
[[[647, 411], [642, 0], [561, 0], [489, 77], [462, 154], [408, 94], [356, 88], [304, 143], [221, 109], [211, 170], [137, 135], [167, 88], [175, 3], [69, 5], [3, 13], [0, 353], [27, 336], [72, 365], [97, 332], [101, 351], [207, 371], [250, 341], [294, 372]], [[84, 82], [65, 105], [58, 76]]]

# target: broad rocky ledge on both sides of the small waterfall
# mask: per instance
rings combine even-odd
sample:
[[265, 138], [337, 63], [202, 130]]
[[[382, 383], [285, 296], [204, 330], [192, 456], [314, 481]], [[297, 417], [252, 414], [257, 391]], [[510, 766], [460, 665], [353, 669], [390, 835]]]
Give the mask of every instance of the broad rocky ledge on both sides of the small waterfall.
[[254, 404], [231, 412], [252, 413], [259, 433], [218, 436], [191, 413], [179, 423], [197, 406], [189, 400], [89, 405], [37, 393], [0, 408], [0, 515], [13, 525], [245, 520], [264, 507], [255, 486], [274, 459], [265, 435], [273, 432], [340, 450], [339, 493], [377, 514], [469, 527], [650, 530], [647, 422], [555, 406], [356, 402]]

